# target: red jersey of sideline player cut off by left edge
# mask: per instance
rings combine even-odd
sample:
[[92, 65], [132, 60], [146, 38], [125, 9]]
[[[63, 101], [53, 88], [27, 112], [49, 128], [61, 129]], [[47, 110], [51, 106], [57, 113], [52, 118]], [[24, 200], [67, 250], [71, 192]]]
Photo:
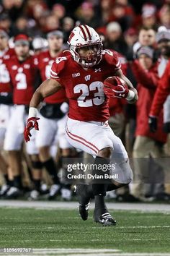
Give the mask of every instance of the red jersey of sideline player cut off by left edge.
[[4, 54], [0, 56], [0, 93], [10, 93], [12, 91], [9, 72], [4, 62], [8, 61], [14, 55], [14, 48], [8, 48], [4, 51]]

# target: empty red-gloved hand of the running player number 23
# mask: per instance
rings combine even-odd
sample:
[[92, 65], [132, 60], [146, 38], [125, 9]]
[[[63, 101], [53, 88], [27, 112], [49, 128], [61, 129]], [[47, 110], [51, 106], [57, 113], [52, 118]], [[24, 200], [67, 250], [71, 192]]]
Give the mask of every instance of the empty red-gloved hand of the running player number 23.
[[35, 128], [36, 130], [39, 130], [37, 120], [39, 120], [39, 117], [30, 117], [27, 119], [26, 127], [24, 128], [24, 140], [26, 142], [30, 141], [30, 137], [32, 136], [30, 133], [30, 130]]

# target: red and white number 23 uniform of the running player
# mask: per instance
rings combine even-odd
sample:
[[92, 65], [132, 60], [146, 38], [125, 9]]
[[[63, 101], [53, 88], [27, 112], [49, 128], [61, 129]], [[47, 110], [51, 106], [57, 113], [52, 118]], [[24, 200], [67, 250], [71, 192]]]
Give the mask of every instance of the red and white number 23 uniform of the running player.
[[[69, 113], [66, 127], [68, 141], [75, 148], [97, 155], [103, 148], [113, 148], [115, 161], [121, 159], [122, 173], [119, 182], [132, 179], [128, 158], [120, 138], [108, 125], [109, 101], [104, 95], [103, 82], [120, 69], [120, 60], [114, 51], [103, 51], [102, 61], [90, 69], [84, 69], [71, 56], [61, 56], [53, 63], [50, 77], [66, 88], [69, 99]], [[127, 175], [125, 175], [127, 174]]]

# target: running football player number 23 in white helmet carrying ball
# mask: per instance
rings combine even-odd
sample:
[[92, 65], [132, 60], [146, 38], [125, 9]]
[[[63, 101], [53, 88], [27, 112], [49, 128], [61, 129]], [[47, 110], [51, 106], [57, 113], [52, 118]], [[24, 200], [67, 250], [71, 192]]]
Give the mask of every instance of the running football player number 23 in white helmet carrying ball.
[[[138, 93], [127, 77], [122, 73], [121, 64], [114, 51], [102, 51], [102, 41], [97, 32], [87, 25], [79, 25], [71, 32], [68, 39], [71, 55], [61, 56], [53, 63], [50, 79], [34, 93], [30, 101], [29, 119], [24, 129], [24, 138], [30, 140], [30, 129], [37, 127], [37, 106], [43, 98], [66, 89], [69, 99], [69, 112], [66, 125], [68, 142], [75, 148], [94, 155], [95, 166], [93, 174], [99, 173], [99, 166], [106, 166], [113, 157], [119, 158], [119, 178], [112, 180], [112, 190], [129, 184], [133, 179], [133, 172], [120, 138], [115, 136], [108, 125], [109, 97], [104, 94], [104, 80], [110, 76], [117, 76], [127, 84], [128, 95], [113, 89], [106, 90], [113, 97], [125, 98], [131, 103], [138, 99]], [[117, 78], [119, 79], [119, 78]], [[127, 98], [128, 97], [128, 98]], [[81, 185], [81, 184], [80, 184]], [[88, 217], [91, 192], [82, 186], [79, 189], [79, 213], [81, 218]], [[108, 188], [109, 187], [109, 188]], [[80, 186], [79, 186], [80, 188]], [[116, 221], [109, 214], [104, 202], [104, 196], [110, 186], [92, 184], [94, 195], [94, 221], [103, 225], [115, 225]]]

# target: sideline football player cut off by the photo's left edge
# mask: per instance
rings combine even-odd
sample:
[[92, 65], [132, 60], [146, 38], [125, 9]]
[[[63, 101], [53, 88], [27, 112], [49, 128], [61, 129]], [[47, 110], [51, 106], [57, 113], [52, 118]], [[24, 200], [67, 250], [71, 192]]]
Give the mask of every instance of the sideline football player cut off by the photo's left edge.
[[[9, 117], [12, 114], [12, 88], [10, 84], [9, 72], [4, 61], [14, 56], [14, 49], [9, 48], [9, 36], [6, 31], [0, 29], [0, 150], [4, 148], [4, 137]], [[7, 174], [8, 165], [0, 153], [0, 169], [4, 174], [5, 184], [1, 187], [0, 195], [6, 195], [11, 182]]]

